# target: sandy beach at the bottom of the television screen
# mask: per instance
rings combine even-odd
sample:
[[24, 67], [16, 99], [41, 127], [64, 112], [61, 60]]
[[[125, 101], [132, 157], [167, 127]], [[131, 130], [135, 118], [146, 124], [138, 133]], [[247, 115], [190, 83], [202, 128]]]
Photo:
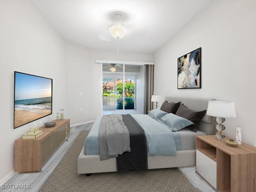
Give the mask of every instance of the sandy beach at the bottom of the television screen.
[[14, 128], [51, 114], [50, 109], [15, 108]]

